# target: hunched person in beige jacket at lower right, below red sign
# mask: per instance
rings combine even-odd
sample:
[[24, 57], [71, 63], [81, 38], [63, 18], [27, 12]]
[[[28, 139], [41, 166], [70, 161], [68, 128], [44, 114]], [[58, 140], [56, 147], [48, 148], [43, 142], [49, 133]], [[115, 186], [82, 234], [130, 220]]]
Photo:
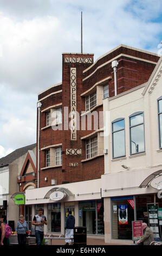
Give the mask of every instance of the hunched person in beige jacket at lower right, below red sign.
[[137, 245], [150, 245], [154, 241], [154, 236], [151, 228], [148, 228], [146, 223], [142, 223], [143, 237], [137, 242]]

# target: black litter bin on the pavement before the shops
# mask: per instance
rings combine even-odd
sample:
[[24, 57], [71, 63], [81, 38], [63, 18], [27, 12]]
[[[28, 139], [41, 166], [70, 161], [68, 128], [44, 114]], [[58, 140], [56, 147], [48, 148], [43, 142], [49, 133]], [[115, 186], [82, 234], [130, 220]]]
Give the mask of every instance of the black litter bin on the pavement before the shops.
[[87, 245], [87, 228], [74, 228], [74, 245]]

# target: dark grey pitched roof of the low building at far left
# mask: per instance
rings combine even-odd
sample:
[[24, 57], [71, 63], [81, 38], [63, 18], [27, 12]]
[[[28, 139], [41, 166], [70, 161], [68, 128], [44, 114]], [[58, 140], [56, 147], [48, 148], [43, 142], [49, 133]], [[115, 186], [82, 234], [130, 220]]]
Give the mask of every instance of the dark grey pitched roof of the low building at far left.
[[36, 147], [36, 143], [28, 145], [26, 147], [16, 149], [12, 153], [10, 153], [7, 156], [4, 156], [0, 159], [0, 167], [7, 166], [8, 164], [14, 162], [18, 157], [24, 155], [28, 152], [28, 150], [32, 150]]

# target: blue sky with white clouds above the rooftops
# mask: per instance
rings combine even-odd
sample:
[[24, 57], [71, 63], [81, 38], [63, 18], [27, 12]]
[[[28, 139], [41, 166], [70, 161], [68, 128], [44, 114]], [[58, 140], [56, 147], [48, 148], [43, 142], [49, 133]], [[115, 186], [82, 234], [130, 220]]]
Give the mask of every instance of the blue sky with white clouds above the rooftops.
[[38, 93], [62, 82], [62, 53], [120, 44], [162, 54], [161, 0], [0, 0], [0, 158], [36, 143]]

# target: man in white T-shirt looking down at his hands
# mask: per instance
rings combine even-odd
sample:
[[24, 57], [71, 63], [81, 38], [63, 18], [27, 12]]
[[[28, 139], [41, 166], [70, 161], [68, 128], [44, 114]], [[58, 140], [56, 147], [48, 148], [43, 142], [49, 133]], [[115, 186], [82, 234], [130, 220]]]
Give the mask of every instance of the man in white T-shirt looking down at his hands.
[[43, 209], [38, 210], [38, 214], [33, 218], [33, 225], [35, 225], [35, 237], [37, 245], [41, 245], [44, 237], [44, 224], [47, 225], [46, 216], [43, 215]]

